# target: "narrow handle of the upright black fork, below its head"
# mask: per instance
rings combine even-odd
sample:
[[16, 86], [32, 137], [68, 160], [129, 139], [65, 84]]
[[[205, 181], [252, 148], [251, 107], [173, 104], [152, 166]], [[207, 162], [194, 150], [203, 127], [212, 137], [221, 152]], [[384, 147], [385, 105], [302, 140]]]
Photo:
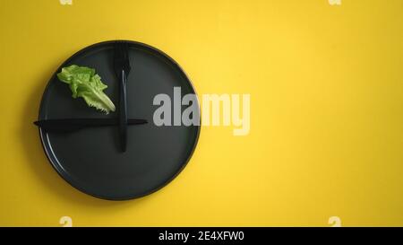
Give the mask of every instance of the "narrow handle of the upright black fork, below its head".
[[119, 88], [119, 136], [122, 152], [126, 151], [127, 145], [127, 101], [126, 101], [126, 81], [127, 77], [122, 70], [120, 74]]

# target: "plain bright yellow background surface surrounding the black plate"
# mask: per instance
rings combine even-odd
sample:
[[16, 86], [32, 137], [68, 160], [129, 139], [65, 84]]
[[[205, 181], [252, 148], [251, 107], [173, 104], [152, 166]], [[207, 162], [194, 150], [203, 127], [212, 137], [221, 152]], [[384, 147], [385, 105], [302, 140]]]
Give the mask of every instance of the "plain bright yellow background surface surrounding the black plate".
[[[0, 33], [0, 225], [403, 225], [402, 0], [1, 0]], [[250, 134], [202, 127], [148, 197], [72, 188], [32, 122], [57, 66], [107, 39], [162, 49], [199, 94], [250, 93]]]

